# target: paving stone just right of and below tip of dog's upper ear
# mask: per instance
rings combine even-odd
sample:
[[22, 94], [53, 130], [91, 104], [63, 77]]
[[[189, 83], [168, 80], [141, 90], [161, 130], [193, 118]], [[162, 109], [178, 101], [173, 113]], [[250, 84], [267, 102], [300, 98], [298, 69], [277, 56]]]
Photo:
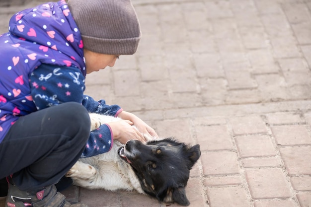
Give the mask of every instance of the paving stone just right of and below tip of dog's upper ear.
[[238, 174], [240, 171], [235, 152], [203, 152], [201, 162], [205, 176], [231, 175]]

